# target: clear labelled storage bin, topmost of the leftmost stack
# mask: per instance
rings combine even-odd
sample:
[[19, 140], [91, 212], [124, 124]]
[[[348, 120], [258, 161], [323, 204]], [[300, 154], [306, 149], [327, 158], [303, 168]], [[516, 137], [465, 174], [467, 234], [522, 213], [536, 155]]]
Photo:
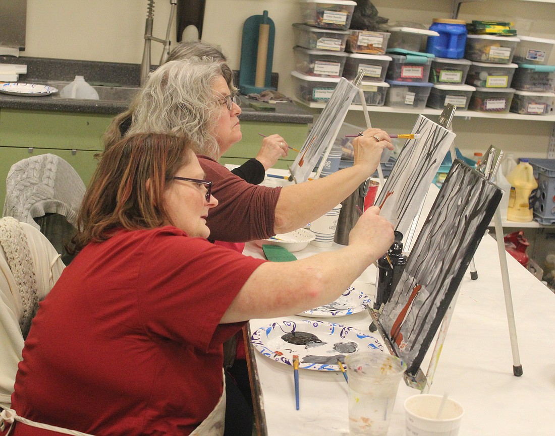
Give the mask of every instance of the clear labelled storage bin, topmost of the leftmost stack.
[[309, 26], [347, 30], [356, 2], [351, 0], [300, 0], [302, 21]]

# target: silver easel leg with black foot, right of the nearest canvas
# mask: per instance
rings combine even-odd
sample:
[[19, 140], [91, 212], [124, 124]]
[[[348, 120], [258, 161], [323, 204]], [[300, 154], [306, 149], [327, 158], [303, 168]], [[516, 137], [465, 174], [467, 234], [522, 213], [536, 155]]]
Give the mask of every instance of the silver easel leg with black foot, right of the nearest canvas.
[[507, 310], [507, 321], [509, 323], [509, 336], [511, 337], [511, 350], [513, 353], [513, 374], [517, 377], [522, 376], [522, 364], [518, 354], [517, 329], [514, 323], [513, 299], [511, 296], [511, 284], [509, 283], [509, 270], [507, 266], [507, 253], [503, 239], [503, 226], [501, 224], [501, 210], [499, 206], [493, 215], [495, 224], [495, 239], [497, 240], [497, 250], [499, 251], [499, 266], [501, 267], [501, 280], [503, 281], [503, 293], [505, 296], [505, 308]]

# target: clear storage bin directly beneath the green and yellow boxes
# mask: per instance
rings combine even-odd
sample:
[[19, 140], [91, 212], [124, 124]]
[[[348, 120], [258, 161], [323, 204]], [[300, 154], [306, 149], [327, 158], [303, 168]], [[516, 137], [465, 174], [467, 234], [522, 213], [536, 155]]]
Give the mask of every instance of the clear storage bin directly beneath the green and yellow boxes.
[[518, 41], [517, 37], [467, 35], [465, 58], [476, 62], [509, 64]]

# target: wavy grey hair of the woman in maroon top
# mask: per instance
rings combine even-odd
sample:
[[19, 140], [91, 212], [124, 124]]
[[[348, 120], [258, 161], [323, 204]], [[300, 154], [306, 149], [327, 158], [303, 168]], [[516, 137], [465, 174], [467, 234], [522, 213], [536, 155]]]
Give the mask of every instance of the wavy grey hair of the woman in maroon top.
[[221, 106], [215, 104], [213, 84], [218, 77], [227, 82], [226, 75], [233, 77], [228, 65], [210, 58], [191, 57], [160, 65], [138, 96], [126, 136], [144, 132], [186, 136], [193, 141], [195, 153], [218, 159], [214, 130]]

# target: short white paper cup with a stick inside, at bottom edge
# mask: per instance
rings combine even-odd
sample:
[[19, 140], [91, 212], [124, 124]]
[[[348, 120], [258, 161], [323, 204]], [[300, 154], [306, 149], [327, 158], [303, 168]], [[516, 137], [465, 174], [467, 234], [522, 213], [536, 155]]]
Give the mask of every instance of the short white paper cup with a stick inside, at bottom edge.
[[457, 436], [464, 409], [447, 398], [440, 417], [437, 416], [443, 397], [418, 394], [405, 400], [407, 436]]

